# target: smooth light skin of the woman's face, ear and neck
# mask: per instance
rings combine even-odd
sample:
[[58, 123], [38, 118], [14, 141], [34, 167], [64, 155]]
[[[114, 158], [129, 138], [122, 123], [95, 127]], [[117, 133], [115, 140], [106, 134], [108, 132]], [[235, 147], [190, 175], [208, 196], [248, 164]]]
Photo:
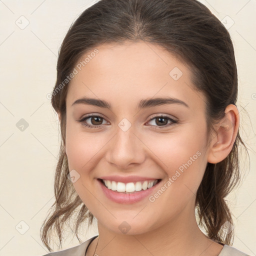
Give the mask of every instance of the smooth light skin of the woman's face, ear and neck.
[[[225, 117], [215, 125], [217, 134], [212, 134], [206, 146], [205, 97], [194, 90], [188, 66], [148, 42], [101, 44], [97, 49], [68, 85], [65, 134], [69, 171], [74, 169], [80, 175], [74, 188], [97, 219], [100, 239], [96, 253], [217, 256], [223, 245], [199, 229], [195, 195], [207, 162], [223, 160], [232, 148], [239, 125], [236, 106], [226, 107]], [[174, 67], [182, 71], [177, 80], [169, 75]], [[112, 108], [73, 104], [84, 96], [103, 99]], [[166, 96], [182, 100], [188, 107], [172, 103], [136, 109], [141, 99]], [[78, 121], [89, 114], [102, 117], [83, 121], [96, 128]], [[162, 124], [152, 119], [162, 114], [178, 122], [168, 126], [168, 119]], [[131, 124], [126, 131], [118, 126], [123, 118]], [[162, 125], [165, 127], [159, 128]], [[197, 151], [200, 156], [154, 202], [145, 198], [119, 204], [99, 187], [97, 178], [112, 174], [161, 178], [165, 183]], [[123, 221], [130, 226], [126, 234], [118, 228]], [[98, 237], [90, 244], [87, 256], [93, 255], [97, 241]]]

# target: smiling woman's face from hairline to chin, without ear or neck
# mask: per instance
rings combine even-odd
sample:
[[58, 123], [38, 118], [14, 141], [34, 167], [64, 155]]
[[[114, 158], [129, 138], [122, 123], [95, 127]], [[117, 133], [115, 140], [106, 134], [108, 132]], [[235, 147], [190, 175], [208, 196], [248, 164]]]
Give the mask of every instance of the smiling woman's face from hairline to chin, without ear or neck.
[[[204, 96], [193, 90], [190, 70], [160, 46], [144, 42], [102, 44], [81, 61], [86, 57], [77, 63], [66, 97], [66, 154], [81, 200], [115, 233], [125, 225], [139, 234], [194, 217], [208, 149]], [[74, 103], [84, 97], [111, 108]], [[141, 100], [155, 98], [173, 100], [139, 108]], [[84, 119], [89, 115], [98, 117]], [[161, 181], [136, 202], [117, 202], [98, 180], [108, 175]]]

